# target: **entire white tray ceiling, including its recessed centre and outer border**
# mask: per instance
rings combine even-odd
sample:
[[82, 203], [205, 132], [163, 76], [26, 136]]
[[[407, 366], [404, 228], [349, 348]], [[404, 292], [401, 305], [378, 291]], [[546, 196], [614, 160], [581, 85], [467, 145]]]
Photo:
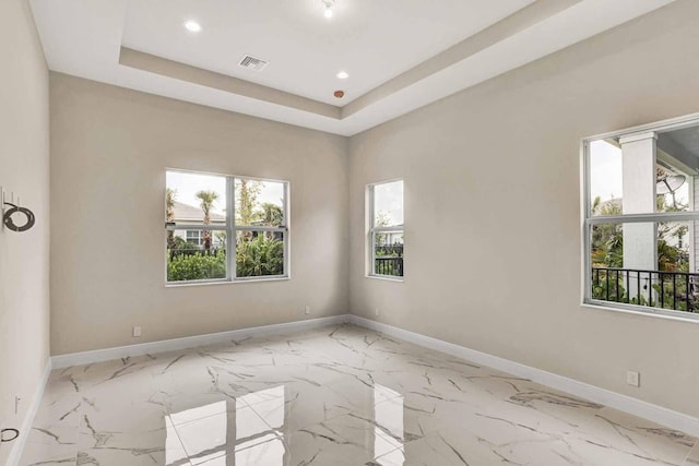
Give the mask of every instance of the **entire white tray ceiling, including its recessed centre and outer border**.
[[[672, 1], [337, 0], [328, 20], [320, 0], [31, 0], [51, 70], [344, 135]], [[169, 71], [120, 63], [122, 47]]]

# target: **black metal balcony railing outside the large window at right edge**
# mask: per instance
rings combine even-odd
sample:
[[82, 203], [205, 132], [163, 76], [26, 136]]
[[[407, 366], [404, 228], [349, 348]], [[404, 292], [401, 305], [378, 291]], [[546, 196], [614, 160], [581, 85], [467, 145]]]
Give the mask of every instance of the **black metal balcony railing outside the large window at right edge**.
[[699, 274], [592, 267], [592, 298], [699, 312]]

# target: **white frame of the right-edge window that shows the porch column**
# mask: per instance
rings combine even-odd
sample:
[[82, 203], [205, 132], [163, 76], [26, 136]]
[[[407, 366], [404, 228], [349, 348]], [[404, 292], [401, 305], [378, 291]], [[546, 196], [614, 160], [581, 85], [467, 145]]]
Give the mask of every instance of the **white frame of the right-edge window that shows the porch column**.
[[[591, 160], [590, 146], [593, 142], [625, 138], [648, 132], [667, 132], [684, 128], [699, 127], [699, 113], [691, 113], [678, 118], [661, 120], [652, 123], [631, 127], [624, 130], [612, 131], [583, 138], [580, 143], [580, 180], [581, 180], [581, 235], [582, 235], [582, 261], [581, 261], [581, 306], [594, 309], [630, 312], [635, 314], [670, 318], [687, 322], [699, 323], [699, 313], [676, 311], [672, 309], [652, 308], [626, 302], [605, 301], [592, 297], [592, 227], [601, 224], [641, 224], [660, 222], [699, 222], [699, 210], [691, 212], [654, 212], [648, 214], [621, 214], [609, 216], [592, 215], [591, 191]], [[699, 189], [699, 187], [698, 187]]]

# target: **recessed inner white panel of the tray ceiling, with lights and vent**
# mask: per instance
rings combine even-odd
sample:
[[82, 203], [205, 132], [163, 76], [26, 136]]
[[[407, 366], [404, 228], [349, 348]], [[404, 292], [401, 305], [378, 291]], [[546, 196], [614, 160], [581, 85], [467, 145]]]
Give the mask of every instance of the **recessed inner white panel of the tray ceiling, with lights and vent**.
[[[122, 44], [342, 106], [533, 1], [337, 0], [328, 20], [320, 0], [139, 0]], [[200, 33], [182, 27], [190, 19]], [[242, 69], [244, 53], [270, 65]], [[341, 70], [350, 79], [339, 80]]]

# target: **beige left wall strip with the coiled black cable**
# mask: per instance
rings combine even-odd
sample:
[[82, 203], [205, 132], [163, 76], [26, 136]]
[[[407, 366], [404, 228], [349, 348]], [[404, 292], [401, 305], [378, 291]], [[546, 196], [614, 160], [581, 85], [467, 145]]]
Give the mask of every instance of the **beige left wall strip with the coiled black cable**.
[[19, 428], [49, 354], [48, 70], [29, 3], [0, 1], [0, 186], [36, 214], [26, 232], [0, 228], [0, 423]]

